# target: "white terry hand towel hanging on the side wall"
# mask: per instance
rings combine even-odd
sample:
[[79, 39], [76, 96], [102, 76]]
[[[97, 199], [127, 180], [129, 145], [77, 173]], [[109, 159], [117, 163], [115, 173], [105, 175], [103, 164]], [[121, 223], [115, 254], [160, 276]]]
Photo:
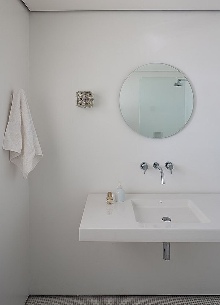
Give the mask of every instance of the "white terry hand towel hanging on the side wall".
[[14, 91], [3, 149], [10, 150], [10, 161], [22, 171], [24, 178], [43, 157], [33, 126], [24, 90]]

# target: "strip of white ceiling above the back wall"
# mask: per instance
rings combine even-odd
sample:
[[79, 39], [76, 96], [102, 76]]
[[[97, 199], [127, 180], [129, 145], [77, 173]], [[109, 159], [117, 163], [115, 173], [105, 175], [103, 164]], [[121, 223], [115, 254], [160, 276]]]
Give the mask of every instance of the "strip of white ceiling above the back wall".
[[22, 0], [30, 11], [220, 10], [220, 0]]

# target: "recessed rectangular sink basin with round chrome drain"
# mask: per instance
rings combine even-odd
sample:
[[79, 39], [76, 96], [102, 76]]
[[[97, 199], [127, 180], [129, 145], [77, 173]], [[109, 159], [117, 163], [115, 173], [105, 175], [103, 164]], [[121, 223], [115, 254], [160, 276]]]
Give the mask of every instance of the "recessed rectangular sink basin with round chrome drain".
[[[137, 222], [207, 223], [208, 217], [189, 199], [131, 200]], [[162, 220], [165, 218], [165, 220]]]

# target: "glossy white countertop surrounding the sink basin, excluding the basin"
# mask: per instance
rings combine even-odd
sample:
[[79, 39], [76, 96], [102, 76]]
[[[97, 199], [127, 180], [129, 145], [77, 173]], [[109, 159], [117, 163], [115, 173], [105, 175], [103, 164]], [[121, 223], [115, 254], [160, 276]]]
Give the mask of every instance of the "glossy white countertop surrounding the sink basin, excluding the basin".
[[[208, 222], [137, 222], [131, 200], [191, 200]], [[168, 215], [164, 215], [168, 216]], [[220, 242], [220, 194], [126, 194], [106, 204], [106, 194], [89, 194], [79, 227], [80, 241]]]

